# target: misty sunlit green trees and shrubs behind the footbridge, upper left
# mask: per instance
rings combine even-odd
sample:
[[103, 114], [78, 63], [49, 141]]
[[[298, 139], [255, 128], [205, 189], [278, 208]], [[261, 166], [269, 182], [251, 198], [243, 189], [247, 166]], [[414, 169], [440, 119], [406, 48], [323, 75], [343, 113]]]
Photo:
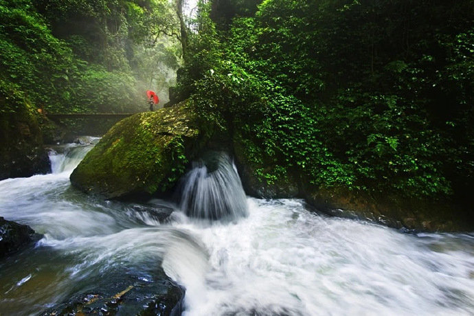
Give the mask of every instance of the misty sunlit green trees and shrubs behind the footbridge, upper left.
[[1, 0], [1, 91], [56, 113], [144, 111], [144, 91], [166, 91], [179, 66], [178, 42], [159, 32], [177, 23], [169, 12], [167, 1]]

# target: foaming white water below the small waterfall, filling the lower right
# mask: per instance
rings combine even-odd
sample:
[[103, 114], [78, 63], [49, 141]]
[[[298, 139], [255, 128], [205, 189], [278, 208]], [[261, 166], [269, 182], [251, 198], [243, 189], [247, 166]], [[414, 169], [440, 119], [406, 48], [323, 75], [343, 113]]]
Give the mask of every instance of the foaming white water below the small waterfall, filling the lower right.
[[235, 225], [175, 224], [210, 249], [204, 284], [184, 280], [188, 315], [474, 312], [473, 236], [400, 234], [297, 200], [249, 199], [249, 208]]

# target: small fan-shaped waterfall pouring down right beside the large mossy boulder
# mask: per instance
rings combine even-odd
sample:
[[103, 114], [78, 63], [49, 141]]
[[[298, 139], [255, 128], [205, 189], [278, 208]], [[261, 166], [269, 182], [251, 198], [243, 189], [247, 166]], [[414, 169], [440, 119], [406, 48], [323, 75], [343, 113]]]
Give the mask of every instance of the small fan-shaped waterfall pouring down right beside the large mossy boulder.
[[225, 153], [211, 152], [194, 162], [179, 192], [180, 208], [190, 217], [232, 220], [248, 214], [236, 166]]

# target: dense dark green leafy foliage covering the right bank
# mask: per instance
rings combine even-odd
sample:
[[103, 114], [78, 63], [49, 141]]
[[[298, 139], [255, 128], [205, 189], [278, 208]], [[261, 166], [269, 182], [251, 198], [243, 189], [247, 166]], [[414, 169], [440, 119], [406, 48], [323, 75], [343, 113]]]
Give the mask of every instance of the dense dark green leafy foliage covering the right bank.
[[473, 1], [259, 2], [201, 3], [178, 88], [261, 181], [467, 198]]

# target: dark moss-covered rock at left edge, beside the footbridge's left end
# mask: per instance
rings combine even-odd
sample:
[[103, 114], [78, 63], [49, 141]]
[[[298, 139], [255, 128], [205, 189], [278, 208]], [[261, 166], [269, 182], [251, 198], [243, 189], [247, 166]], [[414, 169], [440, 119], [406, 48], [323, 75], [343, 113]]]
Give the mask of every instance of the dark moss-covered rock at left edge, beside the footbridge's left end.
[[51, 170], [34, 106], [0, 94], [0, 180]]

